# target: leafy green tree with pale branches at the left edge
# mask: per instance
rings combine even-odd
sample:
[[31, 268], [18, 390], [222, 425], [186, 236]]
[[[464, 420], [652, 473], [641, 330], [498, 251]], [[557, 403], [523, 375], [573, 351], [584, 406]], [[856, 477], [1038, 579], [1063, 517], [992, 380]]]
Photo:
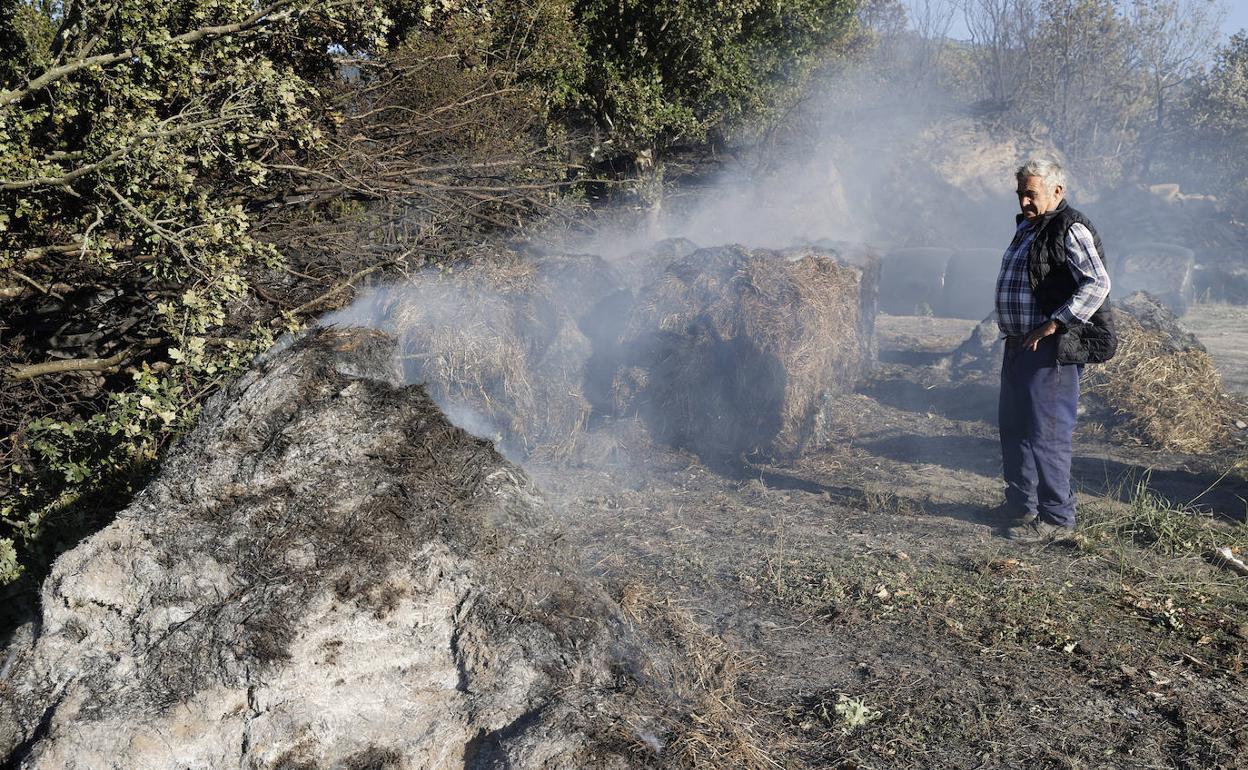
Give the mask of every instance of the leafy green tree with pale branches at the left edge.
[[268, 342], [211, 338], [281, 262], [251, 201], [322, 144], [332, 51], [386, 29], [376, 2], [0, 0], [0, 582]]

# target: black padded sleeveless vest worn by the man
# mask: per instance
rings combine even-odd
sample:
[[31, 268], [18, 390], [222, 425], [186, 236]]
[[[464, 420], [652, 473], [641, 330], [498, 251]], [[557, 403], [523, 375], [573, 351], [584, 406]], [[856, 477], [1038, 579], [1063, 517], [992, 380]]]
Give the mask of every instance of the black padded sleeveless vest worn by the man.
[[[1022, 215], [1018, 216], [1022, 221]], [[1092, 233], [1092, 242], [1096, 251], [1104, 260], [1104, 248], [1101, 246], [1101, 236], [1097, 235], [1092, 222], [1080, 211], [1062, 201], [1057, 208], [1043, 215], [1040, 220], [1040, 232], [1031, 242], [1031, 251], [1027, 255], [1027, 268], [1031, 273], [1031, 292], [1036, 297], [1036, 303], [1046, 316], [1052, 316], [1057, 308], [1066, 305], [1078, 283], [1071, 275], [1066, 265], [1066, 233], [1072, 225], [1083, 225]], [[1058, 363], [1103, 363], [1113, 358], [1118, 349], [1118, 338], [1113, 332], [1113, 311], [1109, 300], [1099, 308], [1087, 323], [1078, 321], [1071, 323], [1066, 333], [1057, 341]]]

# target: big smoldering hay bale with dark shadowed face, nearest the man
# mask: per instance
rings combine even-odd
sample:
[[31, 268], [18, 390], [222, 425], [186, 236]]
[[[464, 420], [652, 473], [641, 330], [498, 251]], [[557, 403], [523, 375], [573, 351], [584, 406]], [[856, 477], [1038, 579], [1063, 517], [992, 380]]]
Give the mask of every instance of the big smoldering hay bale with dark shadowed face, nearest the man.
[[[617, 406], [658, 441], [703, 456], [794, 454], [827, 399], [872, 362], [876, 262], [819, 248], [704, 248], [640, 290]], [[871, 295], [862, 301], [862, 295]]]

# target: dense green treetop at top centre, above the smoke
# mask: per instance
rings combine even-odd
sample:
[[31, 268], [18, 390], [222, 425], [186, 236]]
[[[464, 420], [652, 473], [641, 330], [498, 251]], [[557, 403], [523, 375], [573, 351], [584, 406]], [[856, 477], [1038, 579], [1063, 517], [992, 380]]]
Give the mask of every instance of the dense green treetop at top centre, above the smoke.
[[585, 104], [630, 151], [766, 111], [851, 29], [852, 0], [578, 0]]

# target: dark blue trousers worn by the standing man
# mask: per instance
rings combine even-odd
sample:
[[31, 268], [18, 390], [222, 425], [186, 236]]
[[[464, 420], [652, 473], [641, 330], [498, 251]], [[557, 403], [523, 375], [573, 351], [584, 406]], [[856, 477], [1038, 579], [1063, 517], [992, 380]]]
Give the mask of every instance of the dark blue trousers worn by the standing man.
[[1073, 527], [1071, 439], [1083, 367], [1057, 363], [1057, 337], [1045, 337], [1035, 351], [1020, 337], [1006, 338], [997, 423], [1006, 502], [1050, 524]]

